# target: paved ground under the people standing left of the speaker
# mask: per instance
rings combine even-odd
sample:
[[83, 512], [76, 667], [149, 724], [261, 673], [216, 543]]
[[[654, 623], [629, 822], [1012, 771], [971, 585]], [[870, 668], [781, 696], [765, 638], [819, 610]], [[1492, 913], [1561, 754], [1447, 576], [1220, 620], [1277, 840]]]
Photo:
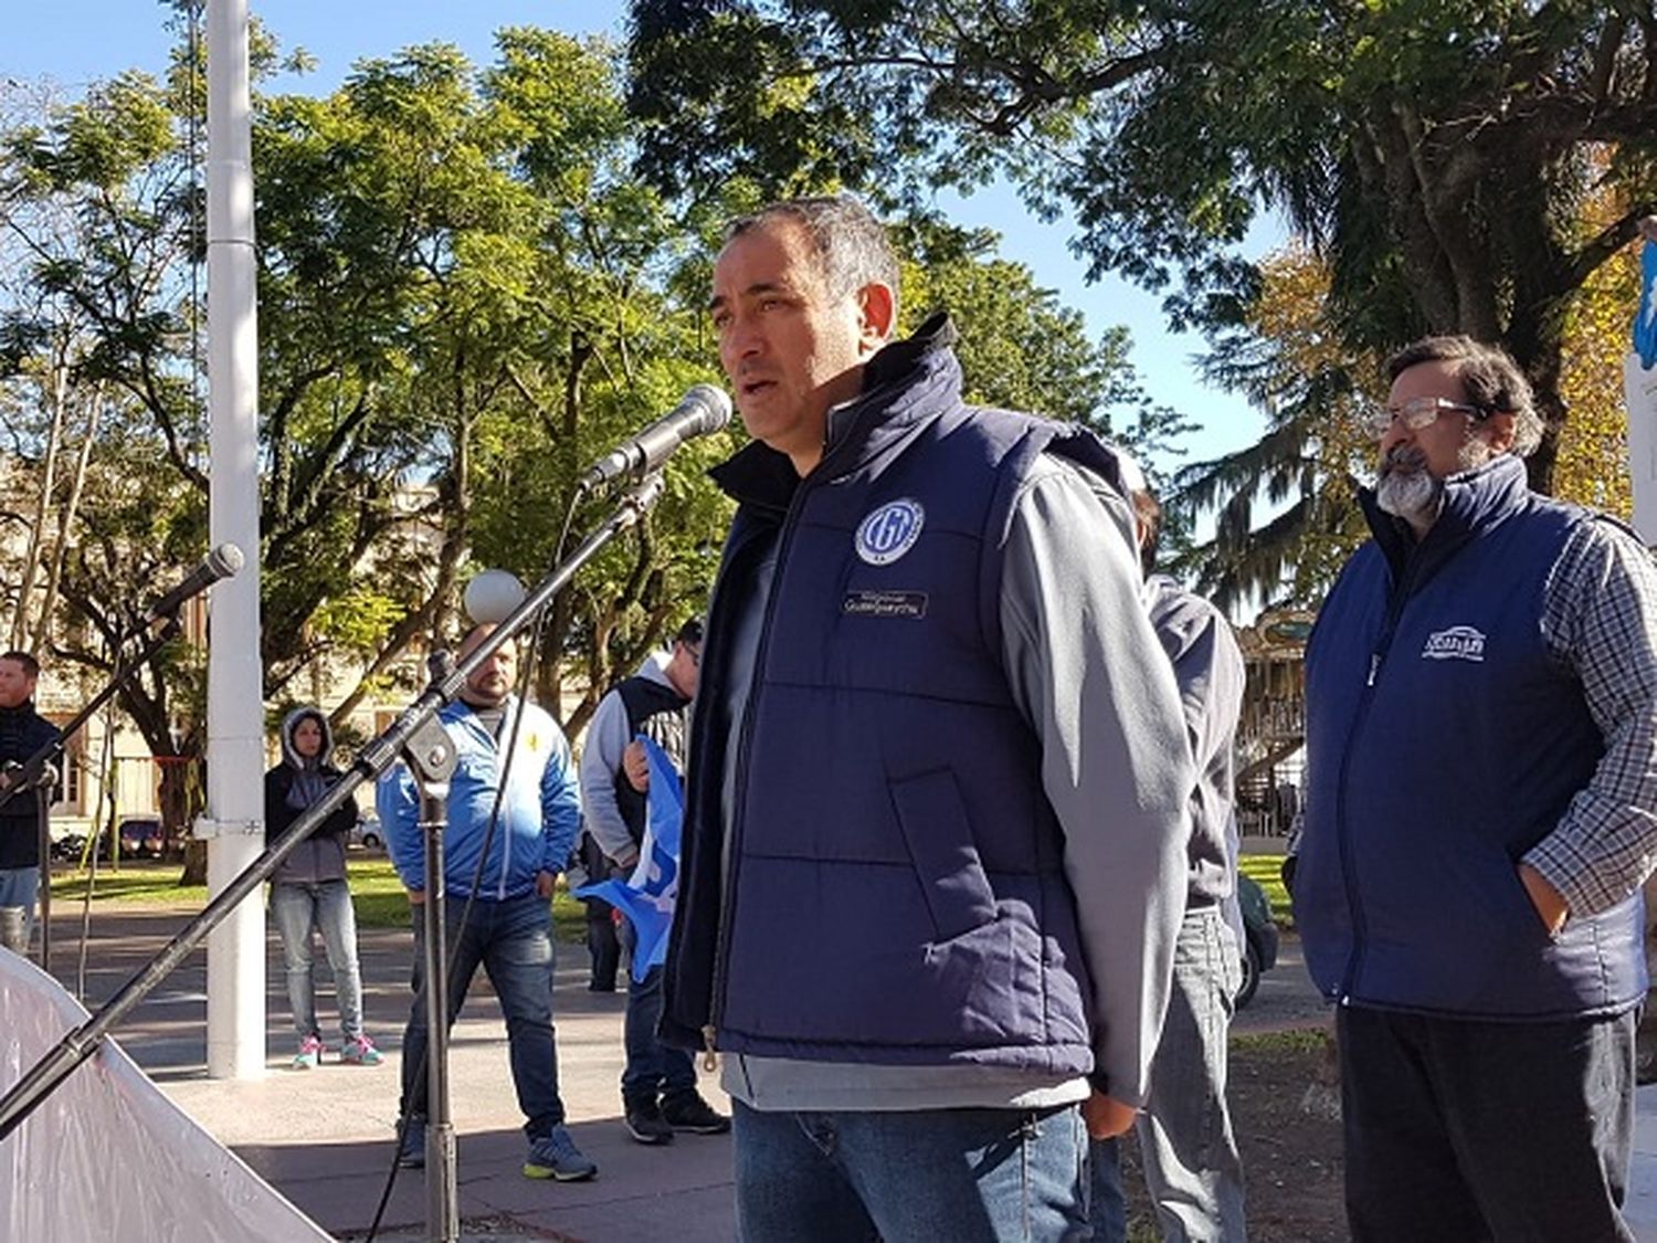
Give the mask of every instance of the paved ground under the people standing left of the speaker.
[[[96, 1008], [136, 973], [184, 923], [177, 912], [126, 908], [94, 918], [88, 1004]], [[116, 1039], [161, 1087], [222, 1144], [335, 1235], [366, 1231], [379, 1202], [393, 1154], [398, 1115], [398, 1041], [409, 1006], [411, 936], [401, 928], [361, 928], [366, 1026], [386, 1061], [378, 1067], [343, 1066], [335, 1057], [316, 1071], [287, 1069], [295, 1036], [287, 1026], [280, 946], [268, 941], [270, 1072], [257, 1082], [205, 1079], [205, 971], [199, 950], [129, 1018]], [[53, 966], [73, 981], [75, 938], [55, 928]], [[335, 1019], [326, 970], [318, 1009]], [[587, 1183], [553, 1183], [520, 1172], [524, 1117], [512, 1092], [500, 1011], [482, 971], [454, 1028], [451, 1095], [459, 1134], [461, 1220], [469, 1236], [578, 1240], [580, 1243], [724, 1243], [736, 1235], [731, 1203], [729, 1135], [679, 1135], [664, 1147], [635, 1144], [621, 1127], [623, 993], [587, 991], [587, 955], [558, 946], [553, 1018], [558, 1034], [560, 1089], [570, 1132], [598, 1162]], [[326, 1033], [331, 1047], [338, 1034]], [[729, 1102], [711, 1076], [704, 1094], [726, 1112]], [[421, 1238], [426, 1223], [424, 1177], [401, 1170], [386, 1210], [383, 1238]], [[413, 1233], [411, 1233], [413, 1231]]]

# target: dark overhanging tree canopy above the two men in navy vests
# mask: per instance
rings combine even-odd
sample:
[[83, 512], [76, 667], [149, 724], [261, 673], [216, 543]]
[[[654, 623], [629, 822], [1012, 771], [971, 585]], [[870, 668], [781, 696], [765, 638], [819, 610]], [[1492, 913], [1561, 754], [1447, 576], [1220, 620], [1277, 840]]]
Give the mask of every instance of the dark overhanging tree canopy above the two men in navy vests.
[[[1208, 328], [1244, 322], [1259, 283], [1236, 244], [1283, 210], [1329, 262], [1350, 350], [1427, 331], [1508, 346], [1548, 423], [1543, 489], [1571, 300], [1657, 202], [1649, 0], [635, 0], [633, 18], [630, 99], [661, 184], [1006, 174], [1074, 214], [1094, 275], [1180, 277], [1170, 315]], [[1626, 210], [1581, 237], [1601, 177]]]

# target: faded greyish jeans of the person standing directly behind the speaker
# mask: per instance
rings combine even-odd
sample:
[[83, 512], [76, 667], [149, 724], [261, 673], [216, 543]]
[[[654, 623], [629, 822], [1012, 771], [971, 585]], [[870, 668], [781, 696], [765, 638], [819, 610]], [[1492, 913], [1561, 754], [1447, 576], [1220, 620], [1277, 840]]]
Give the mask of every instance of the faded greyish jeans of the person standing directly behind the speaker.
[[[1243, 1243], [1243, 1162], [1226, 1112], [1226, 1034], [1243, 986], [1241, 951], [1220, 907], [1186, 912], [1173, 991], [1135, 1122], [1145, 1182], [1165, 1243]], [[1094, 1226], [1127, 1238], [1115, 1144], [1094, 1147]]]

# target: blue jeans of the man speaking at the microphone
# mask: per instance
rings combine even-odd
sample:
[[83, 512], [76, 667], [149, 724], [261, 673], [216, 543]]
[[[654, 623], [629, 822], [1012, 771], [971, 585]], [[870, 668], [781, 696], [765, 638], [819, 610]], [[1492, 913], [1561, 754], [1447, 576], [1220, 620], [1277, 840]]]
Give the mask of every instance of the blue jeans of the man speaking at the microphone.
[[1090, 1236], [1075, 1105], [772, 1114], [734, 1104], [744, 1243]]

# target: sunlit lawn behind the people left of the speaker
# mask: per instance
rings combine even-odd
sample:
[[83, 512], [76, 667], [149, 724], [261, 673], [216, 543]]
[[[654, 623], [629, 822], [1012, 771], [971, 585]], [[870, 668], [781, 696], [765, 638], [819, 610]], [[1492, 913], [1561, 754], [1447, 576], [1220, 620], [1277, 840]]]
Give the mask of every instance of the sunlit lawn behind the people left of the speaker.
[[[101, 867], [93, 885], [93, 907], [96, 908], [99, 903], [111, 907], [205, 907], [207, 887], [181, 885], [181, 863], [159, 863], [156, 860], [129, 860], [121, 863], [119, 872]], [[346, 860], [346, 875], [351, 882], [351, 905], [356, 907], [358, 926], [406, 928], [409, 925], [408, 895], [389, 858], [353, 854]], [[51, 900], [60, 903], [60, 908], [83, 902], [86, 882], [85, 872], [56, 872], [51, 882]], [[557, 938], [580, 941], [585, 918], [582, 903], [572, 898], [560, 882], [552, 900], [552, 923]]]

